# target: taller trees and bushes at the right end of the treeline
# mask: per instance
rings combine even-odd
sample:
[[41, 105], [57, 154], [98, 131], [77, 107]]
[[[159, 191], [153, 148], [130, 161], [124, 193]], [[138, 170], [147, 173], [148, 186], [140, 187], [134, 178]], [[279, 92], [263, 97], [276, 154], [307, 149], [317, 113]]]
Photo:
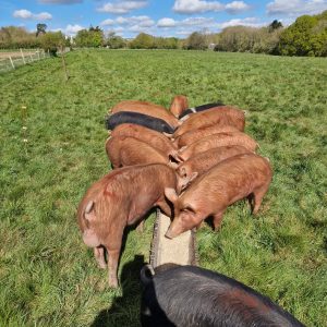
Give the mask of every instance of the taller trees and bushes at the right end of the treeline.
[[215, 50], [281, 56], [327, 56], [327, 11], [303, 15], [287, 28], [274, 21], [268, 27], [235, 26], [216, 35]]

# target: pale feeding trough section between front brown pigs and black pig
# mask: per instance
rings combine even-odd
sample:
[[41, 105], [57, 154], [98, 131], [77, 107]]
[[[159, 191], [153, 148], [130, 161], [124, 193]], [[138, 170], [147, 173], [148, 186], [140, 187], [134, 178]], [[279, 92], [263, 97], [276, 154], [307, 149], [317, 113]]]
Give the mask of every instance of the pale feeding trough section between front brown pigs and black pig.
[[195, 231], [186, 231], [172, 240], [165, 233], [170, 225], [170, 218], [157, 209], [154, 237], [150, 249], [150, 265], [156, 268], [164, 264], [197, 265]]

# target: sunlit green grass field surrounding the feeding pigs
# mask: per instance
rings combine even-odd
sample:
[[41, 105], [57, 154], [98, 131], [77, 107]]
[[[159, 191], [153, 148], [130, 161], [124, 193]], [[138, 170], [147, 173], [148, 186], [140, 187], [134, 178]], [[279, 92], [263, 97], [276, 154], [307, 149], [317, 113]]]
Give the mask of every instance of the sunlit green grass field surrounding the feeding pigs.
[[[126, 233], [121, 289], [82, 242], [76, 206], [109, 169], [104, 117], [123, 99], [218, 99], [275, 175], [257, 218], [245, 202], [197, 233], [201, 266], [277, 301], [307, 326], [327, 317], [327, 61], [196, 51], [81, 50], [0, 75], [0, 326], [138, 326], [138, 271], [154, 217]], [[22, 106], [27, 107], [26, 135]], [[27, 138], [27, 143], [23, 142]]]

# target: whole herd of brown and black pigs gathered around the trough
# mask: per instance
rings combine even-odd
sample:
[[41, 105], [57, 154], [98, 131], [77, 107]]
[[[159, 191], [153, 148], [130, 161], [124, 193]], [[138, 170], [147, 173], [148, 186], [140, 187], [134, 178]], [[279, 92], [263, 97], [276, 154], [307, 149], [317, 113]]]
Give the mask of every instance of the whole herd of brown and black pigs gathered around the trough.
[[[244, 133], [244, 111], [221, 102], [170, 109], [136, 100], [117, 104], [106, 119], [106, 152], [113, 170], [82, 198], [77, 219], [109, 286], [118, 287], [124, 228], [159, 207], [168, 239], [211, 219], [219, 229], [227, 207], [249, 198], [256, 214], [272, 171]], [[199, 267], [143, 267], [142, 326], [303, 326], [255, 290]]]

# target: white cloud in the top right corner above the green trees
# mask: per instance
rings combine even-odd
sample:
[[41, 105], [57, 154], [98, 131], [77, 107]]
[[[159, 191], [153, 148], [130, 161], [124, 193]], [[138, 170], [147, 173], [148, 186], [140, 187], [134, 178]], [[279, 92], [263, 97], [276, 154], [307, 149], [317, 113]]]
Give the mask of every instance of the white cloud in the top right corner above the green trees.
[[299, 16], [302, 14], [316, 14], [326, 9], [326, 0], [275, 0], [267, 4], [269, 15]]

